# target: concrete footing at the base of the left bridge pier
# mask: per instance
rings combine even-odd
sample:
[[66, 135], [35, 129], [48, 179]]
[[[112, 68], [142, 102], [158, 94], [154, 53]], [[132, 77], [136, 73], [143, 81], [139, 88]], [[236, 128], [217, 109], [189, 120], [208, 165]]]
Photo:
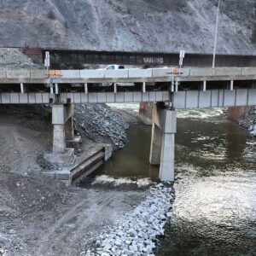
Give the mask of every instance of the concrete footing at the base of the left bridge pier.
[[74, 148], [66, 148], [63, 153], [49, 153], [44, 154], [44, 159], [50, 164], [60, 166], [72, 166], [76, 160]]

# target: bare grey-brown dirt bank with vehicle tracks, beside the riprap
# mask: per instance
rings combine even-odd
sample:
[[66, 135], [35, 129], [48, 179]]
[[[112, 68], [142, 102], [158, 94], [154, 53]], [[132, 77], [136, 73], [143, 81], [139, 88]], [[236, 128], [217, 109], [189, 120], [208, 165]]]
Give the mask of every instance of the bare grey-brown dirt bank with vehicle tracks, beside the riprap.
[[79, 255], [148, 193], [44, 177], [38, 155], [50, 140], [44, 119], [0, 112], [0, 255]]

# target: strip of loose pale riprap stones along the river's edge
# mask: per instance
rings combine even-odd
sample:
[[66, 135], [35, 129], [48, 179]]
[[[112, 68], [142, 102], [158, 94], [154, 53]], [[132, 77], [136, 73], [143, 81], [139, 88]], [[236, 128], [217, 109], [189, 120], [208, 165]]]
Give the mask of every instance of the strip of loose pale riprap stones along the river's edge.
[[154, 185], [146, 201], [103, 232], [96, 241], [96, 247], [81, 255], [154, 255], [157, 236], [164, 235], [166, 221], [172, 218], [173, 200], [170, 184]]

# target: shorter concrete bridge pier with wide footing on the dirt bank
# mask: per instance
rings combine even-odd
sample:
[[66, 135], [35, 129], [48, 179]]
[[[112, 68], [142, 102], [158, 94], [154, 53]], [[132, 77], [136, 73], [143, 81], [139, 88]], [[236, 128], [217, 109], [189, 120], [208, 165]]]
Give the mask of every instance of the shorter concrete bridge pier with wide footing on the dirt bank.
[[45, 160], [49, 163], [61, 166], [73, 165], [75, 161], [74, 148], [66, 147], [68, 137], [73, 137], [73, 105], [60, 104], [52, 106], [53, 125], [53, 150], [50, 154], [44, 154]]

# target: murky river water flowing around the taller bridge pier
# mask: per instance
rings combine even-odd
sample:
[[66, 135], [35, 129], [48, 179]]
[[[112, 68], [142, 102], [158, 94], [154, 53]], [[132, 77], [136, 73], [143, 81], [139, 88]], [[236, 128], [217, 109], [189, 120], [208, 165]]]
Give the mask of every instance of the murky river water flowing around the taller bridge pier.
[[[150, 126], [131, 125], [130, 143], [102, 172], [156, 179], [150, 135]], [[256, 140], [219, 109], [180, 111], [176, 200], [156, 255], [256, 255], [255, 167]]]

